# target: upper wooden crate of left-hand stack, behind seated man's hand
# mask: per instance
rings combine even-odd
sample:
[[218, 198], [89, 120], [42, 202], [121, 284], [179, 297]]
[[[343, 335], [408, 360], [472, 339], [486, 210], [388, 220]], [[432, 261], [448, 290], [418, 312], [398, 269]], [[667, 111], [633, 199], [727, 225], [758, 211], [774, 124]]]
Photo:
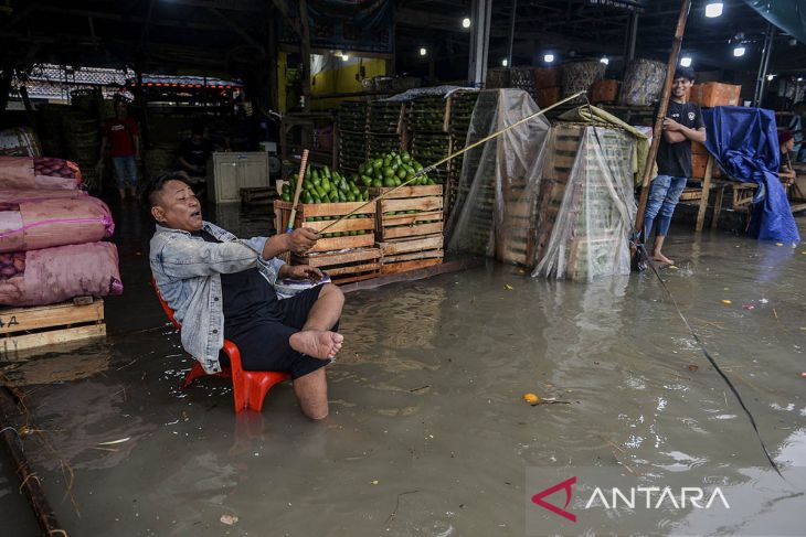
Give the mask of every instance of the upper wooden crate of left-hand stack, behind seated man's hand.
[[[274, 202], [275, 226], [278, 230], [285, 229], [291, 214], [291, 202], [276, 200]], [[309, 227], [320, 230], [332, 224], [332, 221], [312, 218], [338, 218], [356, 211], [357, 218], [348, 218], [330, 227], [326, 233], [364, 232], [363, 235], [321, 238], [310, 251], [331, 251], [347, 248], [365, 248], [375, 244], [375, 204], [369, 202], [347, 203], [300, 203], [294, 227]]]

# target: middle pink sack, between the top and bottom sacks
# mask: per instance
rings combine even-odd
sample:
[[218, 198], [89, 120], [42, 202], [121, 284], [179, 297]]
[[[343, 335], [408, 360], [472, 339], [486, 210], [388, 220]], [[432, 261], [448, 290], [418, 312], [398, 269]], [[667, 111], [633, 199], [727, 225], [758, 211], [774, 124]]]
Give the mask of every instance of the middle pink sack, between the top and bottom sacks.
[[114, 232], [109, 207], [96, 197], [0, 202], [0, 253], [97, 243]]

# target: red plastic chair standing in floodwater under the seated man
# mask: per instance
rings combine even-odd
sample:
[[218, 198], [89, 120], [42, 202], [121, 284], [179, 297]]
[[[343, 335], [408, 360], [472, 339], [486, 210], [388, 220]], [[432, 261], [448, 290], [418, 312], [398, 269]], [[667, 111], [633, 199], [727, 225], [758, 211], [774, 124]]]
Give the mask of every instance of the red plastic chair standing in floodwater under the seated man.
[[[153, 286], [153, 290], [157, 291], [157, 298], [159, 299], [159, 303], [162, 304], [162, 309], [166, 311], [168, 319], [170, 319], [177, 330], [181, 330], [182, 325], [173, 316], [173, 310], [162, 299], [162, 293], [159, 292], [153, 278], [151, 278], [151, 284]], [[290, 378], [288, 373], [244, 370], [241, 366], [241, 352], [230, 340], [224, 340], [224, 354], [230, 358], [230, 367], [222, 367], [221, 373], [213, 373], [212, 376], [232, 378], [232, 389], [235, 396], [235, 414], [246, 408], [259, 412], [263, 408], [263, 399], [265, 399], [272, 386]], [[193, 367], [180, 385], [181, 389], [185, 389], [193, 380], [206, 375], [208, 373], [199, 361], [193, 361]]]

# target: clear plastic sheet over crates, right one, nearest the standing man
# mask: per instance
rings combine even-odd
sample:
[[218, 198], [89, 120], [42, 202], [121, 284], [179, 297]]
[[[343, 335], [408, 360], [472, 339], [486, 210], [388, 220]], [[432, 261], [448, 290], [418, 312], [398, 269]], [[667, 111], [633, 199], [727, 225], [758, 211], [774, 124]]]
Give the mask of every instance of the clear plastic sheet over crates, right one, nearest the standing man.
[[[616, 128], [576, 126], [575, 141], [573, 136], [563, 136], [571, 129], [574, 127], [552, 129], [547, 170], [563, 170], [566, 164], [561, 161], [570, 154], [573, 164], [564, 189], [561, 180], [554, 186], [555, 194], [562, 192], [559, 207], [542, 204], [548, 216], [554, 214], [553, 225], [532, 276], [592, 281], [600, 276], [628, 275], [629, 236], [637, 211], [633, 195], [636, 139]], [[539, 224], [542, 233], [548, 230], [549, 219]]]

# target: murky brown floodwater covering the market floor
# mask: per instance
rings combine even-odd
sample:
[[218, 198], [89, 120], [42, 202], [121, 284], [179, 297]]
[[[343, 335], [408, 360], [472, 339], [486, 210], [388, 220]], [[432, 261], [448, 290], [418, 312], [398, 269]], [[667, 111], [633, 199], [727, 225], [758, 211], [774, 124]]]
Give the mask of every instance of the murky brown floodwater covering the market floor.
[[[108, 301], [110, 323], [128, 310], [138, 327], [162, 325], [141, 247], [121, 256], [136, 291]], [[526, 476], [547, 468], [656, 485], [708, 470], [734, 502], [638, 509], [641, 534], [803, 535], [806, 247], [677, 232], [668, 254], [667, 286], [788, 482], [651, 273], [584, 284], [489, 264], [351, 293], [320, 423], [288, 385], [259, 415], [235, 416], [219, 379], [180, 391], [191, 361], [168, 327], [112, 330], [3, 370], [43, 431], [26, 453], [71, 536], [540, 535]], [[524, 393], [569, 404], [530, 406]], [[17, 494], [0, 476], [3, 519], [36, 535]], [[591, 514], [565, 533], [613, 524]]]

